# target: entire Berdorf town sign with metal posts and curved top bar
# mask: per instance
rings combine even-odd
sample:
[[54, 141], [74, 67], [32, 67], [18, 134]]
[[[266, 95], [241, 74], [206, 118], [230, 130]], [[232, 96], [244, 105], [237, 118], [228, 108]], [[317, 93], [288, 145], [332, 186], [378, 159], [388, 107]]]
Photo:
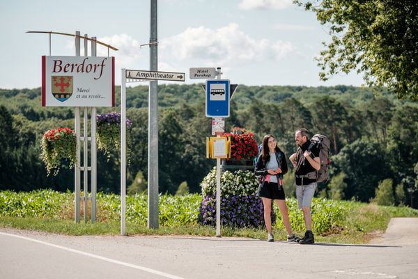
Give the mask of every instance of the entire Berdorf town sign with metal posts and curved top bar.
[[[75, 164], [75, 223], [80, 221], [80, 203], [84, 202], [84, 223], [88, 221], [88, 200], [91, 201], [91, 222], [95, 222], [97, 193], [97, 151], [96, 151], [96, 107], [114, 107], [114, 57], [96, 56], [97, 44], [106, 45], [95, 37], [52, 31], [29, 31], [28, 33], [52, 33], [75, 37], [75, 56], [42, 56], [42, 106], [75, 107], [74, 130], [77, 135]], [[81, 38], [84, 39], [84, 56], [80, 56]], [[88, 56], [88, 40], [91, 41], [91, 56]], [[80, 120], [80, 107], [83, 107], [83, 129]], [[91, 137], [88, 137], [88, 107], [91, 107]], [[83, 130], [83, 135], [81, 135]], [[91, 142], [91, 166], [88, 167], [88, 141]], [[83, 144], [81, 144], [83, 142]], [[84, 157], [81, 160], [81, 146]], [[83, 162], [83, 166], [81, 166]], [[88, 195], [88, 172], [91, 176], [91, 195]], [[81, 193], [81, 172], [83, 190]]]

